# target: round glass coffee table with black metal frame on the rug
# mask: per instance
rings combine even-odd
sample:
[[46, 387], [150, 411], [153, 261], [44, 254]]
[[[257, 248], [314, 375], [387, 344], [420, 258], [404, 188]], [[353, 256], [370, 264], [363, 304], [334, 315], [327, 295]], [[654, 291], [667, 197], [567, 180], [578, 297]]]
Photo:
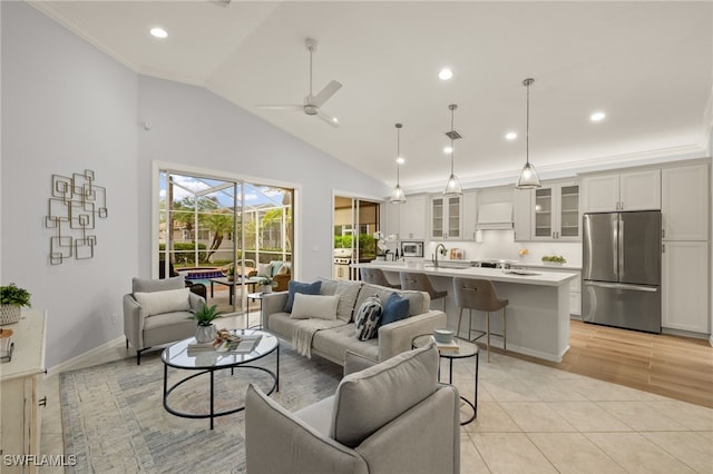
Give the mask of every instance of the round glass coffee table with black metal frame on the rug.
[[[263, 330], [252, 329], [235, 329], [231, 330], [231, 334], [242, 336], [260, 336], [260, 340], [255, 343], [254, 347], [250, 352], [231, 352], [219, 353], [216, 350], [196, 350], [188, 349], [188, 345], [195, 343], [195, 338], [180, 340], [164, 349], [160, 359], [164, 363], [164, 408], [173, 415], [182, 416], [184, 418], [211, 418], [211, 429], [213, 429], [213, 422], [218, 416], [225, 416], [233, 413], [242, 412], [245, 409], [245, 405], [236, 406], [229, 409], [221, 412], [215, 411], [215, 373], [217, 371], [231, 369], [231, 375], [234, 375], [235, 369], [255, 369], [262, 371], [272, 377], [272, 387], [265, 391], [267, 395], [273, 392], [280, 392], [280, 339]], [[252, 365], [251, 363], [258, 361], [267, 355], [275, 353], [275, 371], [271, 371], [265, 367]], [[177, 368], [179, 371], [187, 371], [186, 376], [178, 382], [168, 386], [168, 367]], [[207, 375], [211, 378], [211, 409], [209, 413], [185, 413], [176, 408], [172, 408], [168, 405], [168, 395], [176, 388], [180, 387], [186, 382]]]

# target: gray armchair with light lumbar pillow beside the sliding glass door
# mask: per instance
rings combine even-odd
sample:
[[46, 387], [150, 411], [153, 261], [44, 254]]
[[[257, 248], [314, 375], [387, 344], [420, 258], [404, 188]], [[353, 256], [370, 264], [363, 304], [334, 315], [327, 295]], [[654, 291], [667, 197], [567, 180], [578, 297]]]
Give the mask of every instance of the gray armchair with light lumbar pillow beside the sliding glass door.
[[[205, 299], [186, 288], [182, 276], [134, 278], [131, 292], [124, 295], [124, 335], [126, 348], [131, 344], [136, 349], [137, 365], [141, 364], [141, 353], [152, 346], [185, 339], [196, 333], [196, 323], [187, 317], [199, 309]], [[145, 305], [141, 306], [138, 299]]]

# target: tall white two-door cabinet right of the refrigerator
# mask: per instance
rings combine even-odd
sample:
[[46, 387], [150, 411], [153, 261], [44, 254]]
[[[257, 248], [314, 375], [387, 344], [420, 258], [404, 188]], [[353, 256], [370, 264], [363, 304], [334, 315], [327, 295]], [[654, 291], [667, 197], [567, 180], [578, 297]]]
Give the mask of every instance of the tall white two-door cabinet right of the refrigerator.
[[661, 171], [662, 326], [709, 334], [709, 166]]

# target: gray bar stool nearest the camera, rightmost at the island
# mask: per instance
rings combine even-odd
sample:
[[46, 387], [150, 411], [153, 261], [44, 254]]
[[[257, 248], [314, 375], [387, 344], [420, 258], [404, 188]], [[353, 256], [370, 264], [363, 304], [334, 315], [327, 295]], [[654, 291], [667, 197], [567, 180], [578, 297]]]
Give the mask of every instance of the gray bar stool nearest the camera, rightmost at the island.
[[502, 334], [495, 334], [496, 336], [502, 336], [502, 350], [507, 352], [507, 326], [505, 307], [508, 305], [507, 299], [498, 298], [498, 294], [495, 290], [495, 285], [489, 279], [473, 279], [473, 278], [453, 278], [453, 294], [456, 297], [456, 305], [458, 305], [458, 329], [456, 335], [460, 334], [460, 319], [463, 315], [463, 308], [468, 308], [468, 338], [472, 333], [472, 310], [477, 309], [486, 312], [486, 332], [478, 330], [480, 334], [478, 337], [471, 340], [477, 340], [484, 335], [488, 336], [488, 362], [490, 362], [490, 312], [497, 312], [502, 309]]

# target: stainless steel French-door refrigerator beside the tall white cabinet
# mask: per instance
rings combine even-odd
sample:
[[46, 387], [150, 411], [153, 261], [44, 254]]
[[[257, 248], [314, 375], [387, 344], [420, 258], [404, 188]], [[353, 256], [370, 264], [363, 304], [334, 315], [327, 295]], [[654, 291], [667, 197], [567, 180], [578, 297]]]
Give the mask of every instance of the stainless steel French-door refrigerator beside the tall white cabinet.
[[582, 318], [661, 333], [661, 211], [583, 216]]

